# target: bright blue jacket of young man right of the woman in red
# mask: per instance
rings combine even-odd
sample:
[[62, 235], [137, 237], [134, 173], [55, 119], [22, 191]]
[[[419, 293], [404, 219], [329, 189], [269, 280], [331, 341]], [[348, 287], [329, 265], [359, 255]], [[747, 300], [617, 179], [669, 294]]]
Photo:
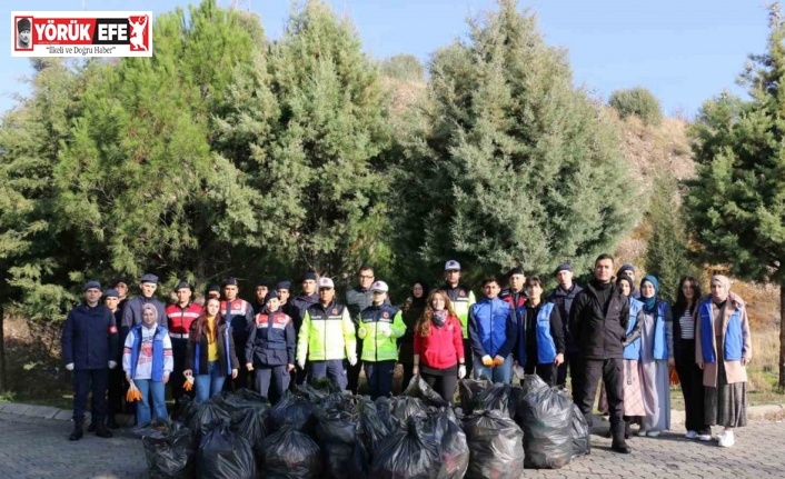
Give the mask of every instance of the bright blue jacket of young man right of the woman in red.
[[486, 355], [507, 358], [518, 335], [515, 313], [506, 301], [498, 298], [484, 298], [471, 305], [468, 329], [471, 350], [477, 358]]

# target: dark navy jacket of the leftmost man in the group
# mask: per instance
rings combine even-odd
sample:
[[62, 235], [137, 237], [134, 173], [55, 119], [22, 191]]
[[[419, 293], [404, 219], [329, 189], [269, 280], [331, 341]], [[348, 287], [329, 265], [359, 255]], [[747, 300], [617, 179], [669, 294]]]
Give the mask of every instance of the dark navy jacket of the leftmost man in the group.
[[73, 369], [107, 369], [117, 361], [118, 331], [115, 315], [105, 305], [77, 306], [68, 313], [60, 339], [62, 360]]

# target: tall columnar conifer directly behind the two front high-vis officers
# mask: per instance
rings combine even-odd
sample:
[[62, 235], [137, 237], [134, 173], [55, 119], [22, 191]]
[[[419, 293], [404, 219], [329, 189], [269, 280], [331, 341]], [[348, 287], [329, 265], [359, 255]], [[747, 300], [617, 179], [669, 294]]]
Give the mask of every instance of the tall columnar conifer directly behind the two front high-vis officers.
[[380, 154], [389, 132], [378, 69], [357, 32], [321, 1], [307, 1], [292, 12], [268, 64], [280, 124], [265, 154], [272, 177], [286, 181], [267, 194], [289, 202], [291, 214], [279, 227], [280, 241], [297, 251], [292, 262], [337, 276], [384, 257]]

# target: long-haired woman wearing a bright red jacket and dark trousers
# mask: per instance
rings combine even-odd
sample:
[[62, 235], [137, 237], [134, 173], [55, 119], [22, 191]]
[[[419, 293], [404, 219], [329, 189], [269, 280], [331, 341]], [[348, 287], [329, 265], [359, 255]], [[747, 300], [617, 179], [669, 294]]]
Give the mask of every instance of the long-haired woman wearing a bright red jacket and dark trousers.
[[415, 326], [415, 375], [453, 403], [458, 379], [466, 376], [464, 333], [446, 292], [430, 293]]

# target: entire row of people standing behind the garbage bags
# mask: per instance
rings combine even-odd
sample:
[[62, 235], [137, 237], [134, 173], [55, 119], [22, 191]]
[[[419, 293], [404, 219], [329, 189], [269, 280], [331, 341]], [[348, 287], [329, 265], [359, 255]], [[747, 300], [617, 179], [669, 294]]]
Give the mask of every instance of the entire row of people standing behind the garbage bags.
[[111, 437], [129, 387], [141, 393], [136, 419], [143, 423], [168, 417], [168, 383], [176, 408], [185, 395], [205, 402], [246, 387], [276, 401], [288, 388], [319, 378], [357, 393], [365, 370], [375, 399], [392, 392], [401, 363], [404, 383], [419, 375], [450, 402], [467, 375], [509, 383], [536, 373], [566, 388], [569, 373], [573, 397], [589, 423], [602, 378], [613, 449], [629, 452], [630, 423], [640, 423], [639, 436], [670, 428], [668, 378], [675, 366], [687, 437], [711, 439], [711, 426], [722, 425], [721, 446], [733, 445], [733, 428], [746, 422], [745, 366], [752, 357], [743, 300], [724, 277], [713, 278], [706, 298], [697, 280], [686, 278], [672, 309], [659, 298], [656, 278], [645, 277], [636, 291], [632, 267], [615, 277], [613, 271], [613, 258], [598, 257], [594, 279], [580, 288], [564, 263], [554, 272], [558, 286], [545, 293], [539, 277], [513, 268], [507, 289], [486, 278], [476, 300], [460, 283], [460, 265], [450, 260], [440, 288], [431, 291], [416, 281], [401, 308], [390, 303], [389, 287], [369, 267], [360, 268], [345, 302], [336, 299], [330, 278], [312, 272], [304, 275], [294, 298], [290, 281], [258, 282], [254, 303], [239, 299], [235, 278], [210, 287], [203, 305], [181, 281], [168, 307], [155, 298], [153, 275], [140, 279], [140, 295], [131, 299], [126, 280], [106, 291], [90, 281], [62, 333], [74, 386], [70, 439], [83, 435], [89, 389], [96, 435]]

